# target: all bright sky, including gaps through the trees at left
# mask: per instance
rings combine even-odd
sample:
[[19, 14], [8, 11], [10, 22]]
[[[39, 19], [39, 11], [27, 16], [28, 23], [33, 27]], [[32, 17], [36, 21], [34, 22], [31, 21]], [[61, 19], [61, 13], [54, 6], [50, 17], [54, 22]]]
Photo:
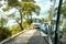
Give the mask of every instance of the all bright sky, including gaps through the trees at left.
[[[44, 18], [44, 19], [47, 19], [48, 18], [48, 10], [50, 10], [50, 8], [51, 8], [51, 6], [53, 6], [53, 2], [51, 2], [50, 0], [35, 0], [36, 1], [36, 4], [38, 4], [40, 6], [40, 8], [41, 8], [41, 11], [40, 11], [40, 15], [37, 16], [35, 13], [34, 13], [34, 15], [33, 15], [33, 18], [35, 16], [37, 16], [37, 18]], [[56, 1], [56, 6], [58, 6], [58, 1], [59, 0], [57, 0]], [[2, 4], [3, 4], [3, 2], [1, 2]], [[15, 11], [16, 9], [11, 9], [10, 11], [8, 11], [8, 12], [4, 12], [4, 14], [10, 14], [10, 13], [13, 13], [14, 11]], [[0, 12], [3, 12], [2, 10], [1, 10], [1, 8], [0, 8]], [[15, 14], [19, 14], [19, 13], [15, 13]], [[0, 15], [1, 16], [1, 15]], [[13, 25], [14, 23], [14, 20], [10, 20], [9, 22], [8, 22], [8, 25]]]

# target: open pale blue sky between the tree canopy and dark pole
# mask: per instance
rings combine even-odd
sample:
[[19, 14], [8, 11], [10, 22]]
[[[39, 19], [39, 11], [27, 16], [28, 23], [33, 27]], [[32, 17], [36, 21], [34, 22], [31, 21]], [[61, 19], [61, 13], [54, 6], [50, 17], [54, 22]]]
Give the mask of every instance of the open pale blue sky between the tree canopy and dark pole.
[[[35, 0], [35, 1], [41, 8], [41, 12], [40, 12], [38, 18], [47, 19], [48, 18], [48, 10], [51, 9], [51, 6], [53, 6], [53, 2], [51, 2], [51, 0]], [[55, 7], [58, 6], [58, 1], [59, 0], [57, 0], [55, 2], [55, 4], [56, 4]]]

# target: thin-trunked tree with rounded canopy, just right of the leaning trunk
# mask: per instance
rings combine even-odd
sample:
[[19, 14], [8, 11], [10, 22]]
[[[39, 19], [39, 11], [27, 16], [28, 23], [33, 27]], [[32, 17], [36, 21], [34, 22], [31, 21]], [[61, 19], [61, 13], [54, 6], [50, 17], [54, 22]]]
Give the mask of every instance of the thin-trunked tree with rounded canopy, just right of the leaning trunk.
[[[23, 3], [23, 2], [22, 2]], [[40, 14], [40, 7], [37, 4], [34, 4], [32, 2], [24, 2], [24, 13], [28, 14], [28, 19], [29, 16], [31, 16], [31, 22], [32, 23], [32, 12], [35, 12], [36, 14]], [[38, 11], [37, 11], [38, 10]]]

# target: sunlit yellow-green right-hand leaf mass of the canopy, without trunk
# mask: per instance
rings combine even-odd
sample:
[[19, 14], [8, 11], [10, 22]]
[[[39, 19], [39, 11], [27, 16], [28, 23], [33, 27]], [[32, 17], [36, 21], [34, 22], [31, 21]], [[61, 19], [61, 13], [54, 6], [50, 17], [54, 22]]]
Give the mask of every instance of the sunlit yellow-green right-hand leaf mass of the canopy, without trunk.
[[[33, 2], [20, 2], [19, 3], [22, 9], [23, 9], [23, 13], [28, 14], [28, 13], [31, 13], [31, 12], [40, 12], [40, 7], [37, 4], [34, 4]], [[38, 11], [36, 11], [36, 9], [38, 9]]]

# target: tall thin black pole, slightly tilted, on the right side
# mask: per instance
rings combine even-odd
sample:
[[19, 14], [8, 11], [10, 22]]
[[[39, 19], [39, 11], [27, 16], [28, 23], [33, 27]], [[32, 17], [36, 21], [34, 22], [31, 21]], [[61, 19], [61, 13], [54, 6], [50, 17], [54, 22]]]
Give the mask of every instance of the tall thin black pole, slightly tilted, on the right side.
[[58, 11], [57, 11], [57, 20], [56, 20], [56, 30], [55, 30], [55, 44], [58, 44], [58, 24], [59, 24], [59, 14], [61, 14], [61, 8], [62, 8], [62, 2], [63, 0], [59, 0], [59, 4], [58, 4]]

